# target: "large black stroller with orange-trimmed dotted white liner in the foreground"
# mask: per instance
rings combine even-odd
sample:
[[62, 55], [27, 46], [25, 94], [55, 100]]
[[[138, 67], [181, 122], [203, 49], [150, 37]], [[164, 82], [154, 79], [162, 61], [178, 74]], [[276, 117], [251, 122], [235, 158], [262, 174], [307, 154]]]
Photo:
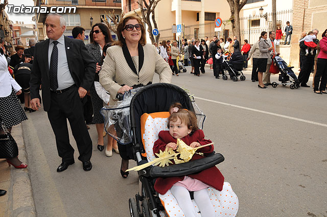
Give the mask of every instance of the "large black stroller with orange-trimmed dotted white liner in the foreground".
[[[189, 95], [180, 87], [172, 84], [148, 85], [138, 90], [131, 99], [129, 106], [130, 134], [132, 135], [132, 153], [137, 165], [147, 163], [154, 158], [153, 142], [158, 139], [159, 131], [168, 129], [169, 112], [167, 111], [174, 102], [179, 102], [185, 109], [195, 111], [198, 114], [198, 108], [193, 106]], [[198, 125], [199, 127], [202, 126], [201, 124]], [[129, 199], [131, 216], [183, 216], [178, 204], [170, 202], [176, 201], [173, 195], [169, 193], [170, 191], [165, 195], [160, 195], [154, 190], [155, 179], [157, 177], [175, 177], [197, 173], [205, 168], [215, 166], [223, 160], [224, 157], [221, 154], [213, 154], [200, 160], [165, 167], [148, 166], [138, 171], [139, 190], [135, 198]], [[208, 188], [208, 194], [217, 211], [216, 216], [236, 215], [238, 199], [228, 182], [224, 182], [222, 191]], [[218, 199], [217, 197], [224, 198]], [[196, 204], [195, 207], [197, 207]], [[200, 213], [198, 214], [201, 216]]]

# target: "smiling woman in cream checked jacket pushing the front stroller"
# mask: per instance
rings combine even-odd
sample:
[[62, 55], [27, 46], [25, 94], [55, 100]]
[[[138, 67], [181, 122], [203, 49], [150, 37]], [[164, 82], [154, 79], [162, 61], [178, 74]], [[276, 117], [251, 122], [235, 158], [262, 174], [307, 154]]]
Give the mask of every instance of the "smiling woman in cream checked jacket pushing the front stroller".
[[[133, 87], [152, 84], [154, 73], [160, 82], [170, 83], [172, 71], [168, 63], [160, 57], [155, 46], [146, 43], [145, 29], [141, 19], [126, 16], [117, 28], [118, 43], [107, 50], [99, 73], [101, 85], [110, 93], [110, 105], [116, 102], [116, 94], [124, 93]], [[127, 178], [130, 144], [118, 144], [122, 157], [121, 175]]]

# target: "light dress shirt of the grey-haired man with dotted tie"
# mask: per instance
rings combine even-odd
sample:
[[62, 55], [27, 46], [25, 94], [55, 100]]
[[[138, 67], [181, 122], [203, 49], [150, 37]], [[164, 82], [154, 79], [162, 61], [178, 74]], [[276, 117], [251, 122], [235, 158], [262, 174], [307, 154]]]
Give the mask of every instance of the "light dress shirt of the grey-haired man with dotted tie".
[[[50, 68], [51, 53], [54, 46], [54, 44], [52, 43], [53, 41], [54, 40], [52, 39], [50, 39], [49, 41], [49, 50], [48, 50], [49, 68]], [[59, 42], [57, 44], [58, 47], [58, 74], [57, 74], [58, 89], [57, 90], [62, 90], [72, 86], [73, 84], [75, 84], [75, 82], [68, 68], [64, 35], [62, 35], [57, 41]]]

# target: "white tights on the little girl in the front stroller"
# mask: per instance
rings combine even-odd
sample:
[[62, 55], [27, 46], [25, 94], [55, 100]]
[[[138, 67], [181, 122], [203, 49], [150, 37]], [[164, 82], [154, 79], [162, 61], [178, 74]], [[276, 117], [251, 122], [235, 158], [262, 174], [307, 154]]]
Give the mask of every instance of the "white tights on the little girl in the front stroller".
[[[185, 217], [198, 216], [193, 207], [190, 192], [188, 189], [181, 186], [172, 186], [170, 191], [176, 198], [180, 208], [183, 210]], [[202, 217], [215, 217], [215, 210], [212, 203], [210, 202], [207, 191], [208, 190], [206, 188], [194, 191], [194, 200], [199, 206]]]

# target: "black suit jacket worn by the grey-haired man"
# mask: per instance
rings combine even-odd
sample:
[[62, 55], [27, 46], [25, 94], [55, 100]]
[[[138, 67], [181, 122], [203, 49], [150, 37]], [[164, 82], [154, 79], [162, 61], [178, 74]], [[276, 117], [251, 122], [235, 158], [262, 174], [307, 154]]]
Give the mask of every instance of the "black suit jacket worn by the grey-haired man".
[[[96, 63], [87, 53], [82, 40], [64, 37], [68, 68], [77, 87], [89, 90], [95, 76]], [[31, 99], [40, 98], [39, 86], [42, 84], [42, 100], [44, 111], [50, 110], [49, 81], [49, 39], [35, 45], [30, 88]], [[69, 47], [69, 49], [67, 49]]]

